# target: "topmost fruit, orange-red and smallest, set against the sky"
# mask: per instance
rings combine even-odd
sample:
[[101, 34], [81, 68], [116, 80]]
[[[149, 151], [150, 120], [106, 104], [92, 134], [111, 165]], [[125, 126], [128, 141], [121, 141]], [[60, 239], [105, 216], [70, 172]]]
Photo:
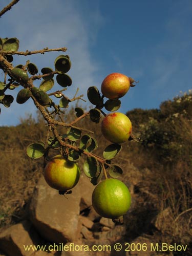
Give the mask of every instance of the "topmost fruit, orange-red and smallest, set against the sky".
[[120, 73], [106, 76], [101, 84], [101, 92], [108, 99], [121, 98], [129, 89], [130, 78]]

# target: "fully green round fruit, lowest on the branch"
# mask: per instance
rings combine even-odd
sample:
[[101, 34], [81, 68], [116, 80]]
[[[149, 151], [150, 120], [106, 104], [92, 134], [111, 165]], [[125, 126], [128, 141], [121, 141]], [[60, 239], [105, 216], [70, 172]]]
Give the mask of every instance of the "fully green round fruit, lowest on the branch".
[[105, 179], [94, 189], [92, 205], [96, 212], [109, 219], [126, 214], [131, 206], [131, 194], [127, 186], [117, 179]]

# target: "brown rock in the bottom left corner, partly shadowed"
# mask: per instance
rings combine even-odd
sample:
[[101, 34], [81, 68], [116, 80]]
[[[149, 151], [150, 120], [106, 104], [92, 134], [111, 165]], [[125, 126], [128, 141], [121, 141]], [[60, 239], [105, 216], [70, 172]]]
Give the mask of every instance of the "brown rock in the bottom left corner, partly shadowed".
[[38, 235], [29, 221], [10, 226], [0, 234], [0, 248], [8, 256], [28, 256], [33, 250], [25, 250], [25, 246], [38, 244]]

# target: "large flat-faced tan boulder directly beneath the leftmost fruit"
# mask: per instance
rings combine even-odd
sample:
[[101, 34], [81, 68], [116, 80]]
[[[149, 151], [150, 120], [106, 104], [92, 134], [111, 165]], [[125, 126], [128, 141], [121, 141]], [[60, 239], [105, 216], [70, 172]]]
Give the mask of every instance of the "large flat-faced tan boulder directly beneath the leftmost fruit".
[[79, 236], [78, 215], [80, 204], [79, 186], [72, 194], [59, 195], [42, 176], [29, 206], [30, 220], [42, 237], [55, 243], [75, 241]]

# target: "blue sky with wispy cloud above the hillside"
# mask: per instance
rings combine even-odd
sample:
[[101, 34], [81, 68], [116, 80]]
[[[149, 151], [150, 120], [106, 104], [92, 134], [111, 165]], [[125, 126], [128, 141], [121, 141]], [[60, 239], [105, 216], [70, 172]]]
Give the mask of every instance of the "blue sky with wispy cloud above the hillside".
[[[9, 2], [2, 0], [0, 9]], [[121, 98], [119, 111], [126, 113], [159, 108], [162, 101], [192, 88], [191, 13], [191, 0], [20, 0], [0, 19], [0, 37], [17, 37], [20, 51], [67, 47], [73, 80], [69, 97], [79, 88], [87, 99], [87, 89], [100, 90], [113, 72], [139, 80]], [[40, 72], [53, 68], [60, 54], [15, 56], [13, 65], [30, 59]], [[20, 117], [36, 113], [31, 99], [1, 109], [0, 125], [16, 125]]]

